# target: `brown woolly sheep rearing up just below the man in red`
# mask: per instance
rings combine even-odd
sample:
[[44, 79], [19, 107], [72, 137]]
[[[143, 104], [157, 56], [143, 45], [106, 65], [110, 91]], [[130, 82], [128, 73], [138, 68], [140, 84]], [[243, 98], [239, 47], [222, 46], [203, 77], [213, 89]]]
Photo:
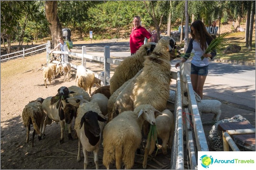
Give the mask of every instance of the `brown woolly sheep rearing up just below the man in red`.
[[142, 45], [135, 55], [126, 57], [119, 66], [116, 67], [114, 75], [110, 79], [110, 94], [112, 95], [121, 85], [131, 79], [139, 70], [143, 68], [144, 56], [151, 54], [156, 43], [149, 42]]

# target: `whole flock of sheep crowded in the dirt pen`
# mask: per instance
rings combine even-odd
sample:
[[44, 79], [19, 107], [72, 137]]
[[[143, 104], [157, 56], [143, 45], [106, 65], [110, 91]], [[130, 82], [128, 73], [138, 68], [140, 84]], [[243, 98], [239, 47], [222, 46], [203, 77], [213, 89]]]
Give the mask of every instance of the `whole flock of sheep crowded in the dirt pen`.
[[[116, 168], [121, 169], [123, 162], [125, 169], [131, 169], [135, 152], [142, 142], [142, 136], [148, 134], [149, 125], [157, 127], [157, 137], [162, 140], [162, 153], [167, 154], [167, 148], [172, 147], [175, 130], [174, 115], [166, 108], [167, 100], [174, 98], [169, 85], [172, 78], [170, 60], [180, 55], [175, 48], [176, 43], [169, 36], [161, 38], [157, 44], [151, 42], [141, 46], [135, 55], [125, 58], [117, 66], [110, 85], [102, 86], [94, 93], [91, 93], [91, 87], [96, 82], [94, 73], [78, 66], [75, 85], [62, 86], [55, 96], [38, 98], [25, 106], [22, 118], [27, 128], [26, 142], [29, 142], [30, 124], [34, 127], [33, 146], [35, 133], [40, 140], [45, 135], [46, 125], [52, 121], [60, 123], [60, 144], [64, 142], [65, 123], [68, 124], [68, 139], [73, 139], [71, 122], [75, 118], [77, 161], [81, 160], [82, 144], [84, 169], [89, 163], [87, 152], [91, 151], [98, 169], [98, 151], [102, 137], [103, 165], [109, 169], [110, 163], [115, 161]], [[68, 62], [57, 65], [50, 63], [43, 70], [45, 85], [46, 79], [51, 84], [53, 73], [56, 77], [56, 70], [61, 74], [61, 69], [65, 81], [67, 73], [69, 80], [71, 66]], [[202, 101], [200, 99], [198, 102], [203, 104]], [[220, 109], [219, 105], [217, 109]], [[215, 121], [220, 114], [221, 112], [216, 112]], [[146, 144], [144, 169], [147, 167], [147, 156], [152, 154], [155, 146], [153, 139]]]

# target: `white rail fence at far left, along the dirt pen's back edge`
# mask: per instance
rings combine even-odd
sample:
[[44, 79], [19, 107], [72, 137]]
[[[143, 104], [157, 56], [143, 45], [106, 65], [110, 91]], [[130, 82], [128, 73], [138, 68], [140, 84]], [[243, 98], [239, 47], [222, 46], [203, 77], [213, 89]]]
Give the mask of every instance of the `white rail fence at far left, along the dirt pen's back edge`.
[[[4, 54], [4, 55], [1, 55], [1, 62], [4, 62], [4, 61], [8, 61], [8, 60], [11, 60], [11, 59], [14, 59], [14, 58], [19, 58], [19, 57], [25, 57], [25, 55], [28, 55], [28, 54], [32, 54], [32, 53], [35, 53], [35, 52], [38, 52], [38, 51], [42, 51], [42, 50], [45, 50], [46, 47], [43, 47], [43, 46], [46, 46], [47, 43], [45, 44], [42, 44], [42, 45], [39, 45], [39, 46], [35, 46], [35, 47], [31, 47], [31, 48], [23, 48], [23, 50], [20, 50], [20, 51], [17, 51], [17, 52], [14, 52], [14, 53], [10, 53], [10, 54]], [[38, 49], [39, 48], [39, 49]], [[34, 50], [35, 49], [35, 50]], [[29, 50], [31, 50], [29, 52]], [[15, 56], [12, 56], [12, 55], [15, 55]], [[16, 55], [18, 54], [18, 55]], [[9, 57], [9, 56], [12, 56], [12, 57]]]

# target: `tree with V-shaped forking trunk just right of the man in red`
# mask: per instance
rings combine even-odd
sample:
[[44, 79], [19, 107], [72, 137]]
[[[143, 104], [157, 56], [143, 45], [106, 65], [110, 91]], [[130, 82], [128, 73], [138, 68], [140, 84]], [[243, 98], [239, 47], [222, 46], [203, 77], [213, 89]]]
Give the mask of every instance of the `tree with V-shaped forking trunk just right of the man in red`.
[[[145, 8], [152, 18], [157, 31], [157, 38], [160, 39], [160, 28], [163, 22], [165, 14], [168, 13], [169, 2], [168, 1], [143, 1]], [[157, 40], [157, 41], [158, 41]]]

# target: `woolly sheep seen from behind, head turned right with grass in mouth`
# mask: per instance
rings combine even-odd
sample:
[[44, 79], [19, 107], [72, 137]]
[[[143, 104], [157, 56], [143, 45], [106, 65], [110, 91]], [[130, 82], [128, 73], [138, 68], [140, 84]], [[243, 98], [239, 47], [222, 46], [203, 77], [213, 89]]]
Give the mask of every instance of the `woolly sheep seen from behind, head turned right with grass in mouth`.
[[135, 151], [140, 146], [142, 124], [146, 120], [155, 125], [155, 117], [162, 113], [151, 105], [140, 105], [134, 111], [124, 111], [106, 124], [103, 130], [103, 165], [109, 169], [116, 160], [116, 168], [125, 169], [134, 164]]

